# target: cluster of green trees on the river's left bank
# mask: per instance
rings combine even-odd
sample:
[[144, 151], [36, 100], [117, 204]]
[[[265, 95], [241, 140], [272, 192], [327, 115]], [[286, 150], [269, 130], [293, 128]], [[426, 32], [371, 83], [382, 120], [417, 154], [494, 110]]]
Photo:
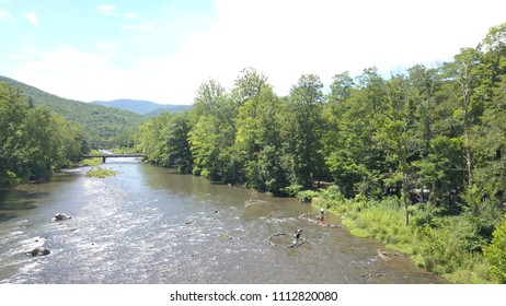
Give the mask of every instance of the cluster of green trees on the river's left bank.
[[81, 158], [81, 129], [0, 82], [0, 188], [47, 179], [53, 170]]

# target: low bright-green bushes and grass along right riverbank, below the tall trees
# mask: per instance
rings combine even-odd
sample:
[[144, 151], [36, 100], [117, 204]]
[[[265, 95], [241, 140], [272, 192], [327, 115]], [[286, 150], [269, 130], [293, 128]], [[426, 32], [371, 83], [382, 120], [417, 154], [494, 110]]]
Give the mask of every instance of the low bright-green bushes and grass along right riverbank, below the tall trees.
[[404, 207], [396, 197], [345, 199], [338, 188], [301, 191], [310, 200], [342, 217], [353, 235], [380, 240], [387, 248], [412, 257], [422, 268], [452, 283], [505, 283], [506, 217], [493, 239], [484, 237], [484, 220], [472, 211], [458, 215], [430, 203], [410, 207], [412, 222], [404, 224]]

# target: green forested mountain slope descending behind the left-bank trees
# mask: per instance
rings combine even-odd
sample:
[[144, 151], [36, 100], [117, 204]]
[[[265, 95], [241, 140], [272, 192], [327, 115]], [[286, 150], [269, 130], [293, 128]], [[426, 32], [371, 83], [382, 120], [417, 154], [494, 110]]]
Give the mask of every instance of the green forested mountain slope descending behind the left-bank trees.
[[25, 95], [27, 103], [31, 102], [34, 106], [45, 106], [51, 111], [77, 122], [90, 140], [128, 139], [149, 118], [148, 116], [123, 109], [62, 98], [0, 75], [0, 82], [2, 81], [19, 89]]

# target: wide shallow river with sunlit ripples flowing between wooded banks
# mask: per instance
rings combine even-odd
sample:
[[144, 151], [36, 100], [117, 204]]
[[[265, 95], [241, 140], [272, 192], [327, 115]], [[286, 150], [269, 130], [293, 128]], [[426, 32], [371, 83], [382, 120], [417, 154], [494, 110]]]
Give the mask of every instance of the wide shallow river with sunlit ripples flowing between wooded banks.
[[[87, 178], [87, 168], [77, 168], [0, 191], [0, 283], [445, 282], [406, 257], [381, 259], [377, 242], [299, 219], [310, 208], [295, 199], [135, 158], [110, 158], [103, 167], [118, 173]], [[58, 212], [72, 219], [51, 221]], [[297, 228], [303, 244], [289, 248]], [[36, 246], [50, 255], [23, 254]]]

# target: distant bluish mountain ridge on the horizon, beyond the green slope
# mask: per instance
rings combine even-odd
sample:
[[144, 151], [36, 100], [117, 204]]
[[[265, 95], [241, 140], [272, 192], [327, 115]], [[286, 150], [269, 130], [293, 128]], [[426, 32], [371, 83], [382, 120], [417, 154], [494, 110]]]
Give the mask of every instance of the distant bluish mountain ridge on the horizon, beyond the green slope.
[[140, 115], [148, 115], [150, 117], [156, 116], [161, 111], [175, 114], [183, 113], [193, 108], [192, 105], [158, 104], [151, 101], [128, 98], [120, 98], [114, 101], [93, 101], [91, 103], [102, 106], [125, 109]]

